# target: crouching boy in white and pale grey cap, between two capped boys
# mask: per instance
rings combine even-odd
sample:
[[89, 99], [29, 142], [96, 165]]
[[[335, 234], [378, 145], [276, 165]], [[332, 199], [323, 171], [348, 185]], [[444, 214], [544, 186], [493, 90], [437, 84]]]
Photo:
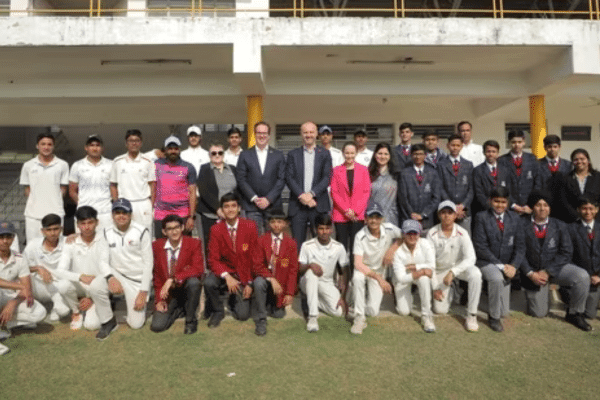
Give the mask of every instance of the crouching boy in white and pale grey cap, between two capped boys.
[[414, 219], [402, 223], [403, 243], [394, 254], [394, 291], [396, 310], [409, 315], [413, 297], [411, 286], [417, 284], [421, 298], [421, 324], [425, 332], [435, 332], [431, 313], [431, 277], [435, 270], [435, 251], [431, 242], [421, 239], [421, 224]]

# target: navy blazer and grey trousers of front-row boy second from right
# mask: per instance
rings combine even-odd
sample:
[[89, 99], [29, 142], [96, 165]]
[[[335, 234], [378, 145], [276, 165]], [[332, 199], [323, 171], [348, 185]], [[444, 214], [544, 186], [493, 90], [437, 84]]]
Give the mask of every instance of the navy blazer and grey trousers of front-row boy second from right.
[[[525, 232], [525, 258], [521, 264], [521, 284], [527, 298], [527, 312], [543, 318], [548, 314], [549, 283], [556, 282], [568, 288], [569, 311], [583, 313], [590, 289], [590, 277], [583, 269], [571, 263], [573, 245], [567, 225], [554, 218], [537, 224], [533, 218], [523, 220]], [[550, 281], [538, 286], [528, 275], [545, 270]]]

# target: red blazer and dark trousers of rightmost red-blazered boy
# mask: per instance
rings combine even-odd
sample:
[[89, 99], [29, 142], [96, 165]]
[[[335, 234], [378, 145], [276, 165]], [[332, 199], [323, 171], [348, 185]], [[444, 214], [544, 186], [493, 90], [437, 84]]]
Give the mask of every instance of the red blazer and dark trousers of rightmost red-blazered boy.
[[[254, 319], [264, 320], [267, 314], [274, 318], [283, 318], [284, 297], [296, 294], [298, 280], [296, 241], [283, 232], [277, 236], [271, 232], [265, 233], [258, 239], [254, 257]], [[276, 279], [283, 289], [278, 296], [273, 293], [268, 278]]]

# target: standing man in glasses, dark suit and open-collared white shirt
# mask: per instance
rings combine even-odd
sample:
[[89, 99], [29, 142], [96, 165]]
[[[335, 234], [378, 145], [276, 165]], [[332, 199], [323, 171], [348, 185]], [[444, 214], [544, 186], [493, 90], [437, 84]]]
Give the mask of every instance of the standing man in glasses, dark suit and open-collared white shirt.
[[263, 234], [268, 213], [282, 209], [285, 158], [281, 151], [269, 146], [269, 124], [257, 122], [254, 125], [254, 135], [256, 146], [242, 151], [238, 159], [237, 181], [246, 218], [253, 220], [259, 233]]

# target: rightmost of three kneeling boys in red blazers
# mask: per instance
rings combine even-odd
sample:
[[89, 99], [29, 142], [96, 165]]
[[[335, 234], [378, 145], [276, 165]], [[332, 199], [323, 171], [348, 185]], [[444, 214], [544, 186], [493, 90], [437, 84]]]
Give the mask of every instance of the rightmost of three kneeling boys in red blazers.
[[267, 314], [283, 318], [292, 304], [298, 280], [296, 241], [284, 234], [287, 220], [283, 212], [269, 216], [270, 232], [258, 239], [254, 252], [253, 311], [258, 336], [267, 334]]

